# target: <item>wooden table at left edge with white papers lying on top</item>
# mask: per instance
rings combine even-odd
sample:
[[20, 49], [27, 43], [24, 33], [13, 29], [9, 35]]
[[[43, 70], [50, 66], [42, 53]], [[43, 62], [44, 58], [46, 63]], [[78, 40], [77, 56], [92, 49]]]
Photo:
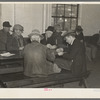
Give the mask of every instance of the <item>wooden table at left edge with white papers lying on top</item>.
[[0, 74], [23, 71], [23, 55], [21, 51], [11, 51], [10, 57], [0, 55]]

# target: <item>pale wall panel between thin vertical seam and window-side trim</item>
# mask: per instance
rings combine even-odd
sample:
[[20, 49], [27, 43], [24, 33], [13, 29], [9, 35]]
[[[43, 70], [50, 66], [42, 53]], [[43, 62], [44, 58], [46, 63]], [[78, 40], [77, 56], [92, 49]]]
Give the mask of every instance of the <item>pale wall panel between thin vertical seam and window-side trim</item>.
[[24, 36], [27, 36], [33, 29], [39, 29], [42, 32], [42, 18], [43, 5], [15, 5], [15, 23], [24, 26]]

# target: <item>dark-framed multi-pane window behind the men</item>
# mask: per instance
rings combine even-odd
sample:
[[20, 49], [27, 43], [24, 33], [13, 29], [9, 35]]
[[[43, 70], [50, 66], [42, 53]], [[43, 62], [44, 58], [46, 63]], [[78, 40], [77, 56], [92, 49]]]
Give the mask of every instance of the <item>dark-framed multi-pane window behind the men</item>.
[[53, 4], [52, 25], [60, 24], [62, 30], [74, 30], [78, 24], [78, 4]]

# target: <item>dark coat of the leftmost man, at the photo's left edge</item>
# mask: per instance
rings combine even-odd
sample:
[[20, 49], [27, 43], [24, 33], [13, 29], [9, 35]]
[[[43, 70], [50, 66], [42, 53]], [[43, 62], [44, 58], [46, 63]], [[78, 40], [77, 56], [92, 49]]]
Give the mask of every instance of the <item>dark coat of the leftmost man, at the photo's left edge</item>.
[[9, 39], [10, 33], [0, 30], [0, 51], [7, 51], [7, 42]]

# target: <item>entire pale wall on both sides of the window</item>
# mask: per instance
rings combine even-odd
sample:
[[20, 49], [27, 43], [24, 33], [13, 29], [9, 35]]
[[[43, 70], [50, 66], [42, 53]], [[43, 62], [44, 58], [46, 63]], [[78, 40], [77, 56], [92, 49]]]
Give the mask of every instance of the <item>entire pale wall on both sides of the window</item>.
[[[32, 29], [41, 33], [51, 25], [51, 5], [49, 4], [2, 4], [0, 6], [0, 28], [2, 22], [8, 20], [12, 25], [24, 26], [23, 36]], [[93, 35], [100, 30], [100, 4], [80, 5], [79, 25], [84, 29], [84, 35]]]

